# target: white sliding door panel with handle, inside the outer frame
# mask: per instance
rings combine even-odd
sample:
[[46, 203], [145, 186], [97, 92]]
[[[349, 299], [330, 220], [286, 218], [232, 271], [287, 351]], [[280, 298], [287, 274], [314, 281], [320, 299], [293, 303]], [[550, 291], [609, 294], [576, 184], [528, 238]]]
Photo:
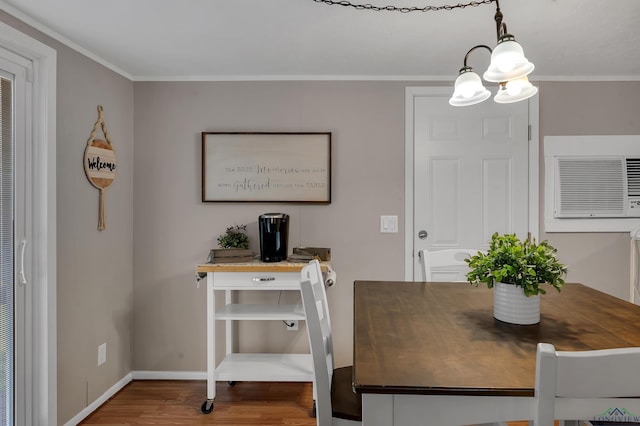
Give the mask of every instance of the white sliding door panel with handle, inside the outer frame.
[[28, 200], [26, 197], [26, 106], [31, 62], [0, 48], [0, 424], [29, 424], [26, 360], [30, 354], [25, 285]]

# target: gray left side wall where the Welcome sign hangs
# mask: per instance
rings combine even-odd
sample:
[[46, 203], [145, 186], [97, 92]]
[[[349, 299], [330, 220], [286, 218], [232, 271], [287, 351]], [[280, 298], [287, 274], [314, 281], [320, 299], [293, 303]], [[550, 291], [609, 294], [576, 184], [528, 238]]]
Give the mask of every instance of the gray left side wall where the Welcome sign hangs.
[[[58, 423], [63, 424], [131, 371], [133, 83], [4, 12], [0, 20], [57, 51]], [[104, 107], [118, 160], [102, 232], [98, 190], [82, 164], [97, 105]], [[107, 362], [98, 367], [98, 345], [105, 342]]]

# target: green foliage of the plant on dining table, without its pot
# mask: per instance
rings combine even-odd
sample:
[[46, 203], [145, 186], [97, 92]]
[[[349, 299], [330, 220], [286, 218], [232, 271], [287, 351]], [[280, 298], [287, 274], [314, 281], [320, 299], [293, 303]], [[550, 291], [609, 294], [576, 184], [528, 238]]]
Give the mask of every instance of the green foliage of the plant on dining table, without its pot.
[[489, 250], [465, 259], [471, 269], [467, 279], [475, 286], [495, 283], [522, 287], [526, 296], [545, 294], [541, 284], [549, 284], [560, 291], [567, 275], [567, 267], [558, 261], [557, 250], [543, 241], [536, 244], [530, 238], [520, 241], [515, 234], [491, 237]]

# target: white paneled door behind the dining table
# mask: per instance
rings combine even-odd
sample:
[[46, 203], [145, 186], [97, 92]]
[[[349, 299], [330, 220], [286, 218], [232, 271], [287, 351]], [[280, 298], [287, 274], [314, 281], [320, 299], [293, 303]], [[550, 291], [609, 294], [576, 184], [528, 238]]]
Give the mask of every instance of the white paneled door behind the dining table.
[[[407, 96], [408, 139], [413, 139], [411, 253], [486, 249], [494, 232], [535, 237], [537, 182], [531, 182], [530, 171], [537, 181], [538, 155], [537, 143], [534, 151], [529, 141], [529, 103], [452, 107], [448, 90], [431, 90]], [[421, 259], [413, 257], [412, 264], [413, 277], [422, 280]]]

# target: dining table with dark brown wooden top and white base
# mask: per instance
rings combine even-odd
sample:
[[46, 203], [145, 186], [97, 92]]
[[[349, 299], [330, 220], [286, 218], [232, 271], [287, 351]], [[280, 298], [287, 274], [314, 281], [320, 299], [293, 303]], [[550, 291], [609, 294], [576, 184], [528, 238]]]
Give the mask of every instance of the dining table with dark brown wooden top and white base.
[[540, 323], [523, 326], [493, 318], [486, 287], [356, 281], [353, 386], [363, 425], [529, 420], [538, 342], [562, 351], [640, 346], [640, 306], [582, 284], [546, 290]]

